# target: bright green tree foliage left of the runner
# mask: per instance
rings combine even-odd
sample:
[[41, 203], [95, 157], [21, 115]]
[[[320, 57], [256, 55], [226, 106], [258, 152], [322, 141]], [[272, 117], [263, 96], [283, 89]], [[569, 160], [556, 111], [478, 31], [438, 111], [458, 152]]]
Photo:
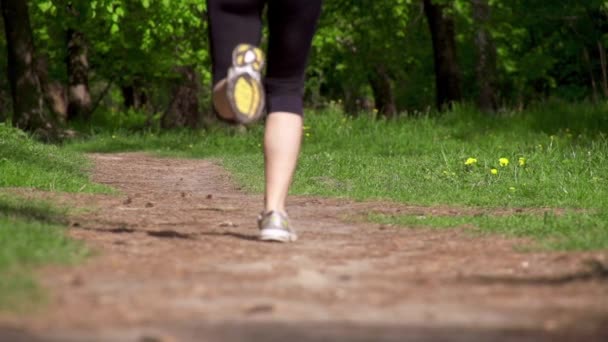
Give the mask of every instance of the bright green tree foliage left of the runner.
[[[204, 0], [31, 1], [37, 47], [51, 73], [65, 79], [66, 31], [84, 33], [98, 79], [146, 88], [176, 77], [175, 68], [197, 65], [211, 79]], [[146, 83], [152, 83], [150, 85]], [[152, 90], [152, 89], [150, 89]]]

